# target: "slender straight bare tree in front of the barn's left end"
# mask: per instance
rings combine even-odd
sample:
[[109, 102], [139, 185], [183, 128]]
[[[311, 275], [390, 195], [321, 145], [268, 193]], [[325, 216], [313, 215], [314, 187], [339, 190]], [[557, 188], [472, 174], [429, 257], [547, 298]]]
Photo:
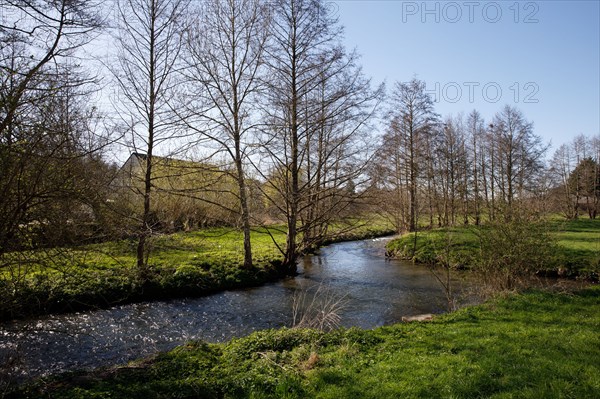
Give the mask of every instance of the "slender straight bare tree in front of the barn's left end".
[[117, 108], [132, 133], [132, 145], [145, 151], [143, 212], [138, 232], [137, 267], [147, 277], [147, 239], [152, 235], [151, 191], [154, 151], [173, 139], [175, 114], [171, 104], [178, 84], [182, 49], [180, 21], [188, 0], [120, 0], [116, 35], [118, 62], [111, 71], [119, 90]]

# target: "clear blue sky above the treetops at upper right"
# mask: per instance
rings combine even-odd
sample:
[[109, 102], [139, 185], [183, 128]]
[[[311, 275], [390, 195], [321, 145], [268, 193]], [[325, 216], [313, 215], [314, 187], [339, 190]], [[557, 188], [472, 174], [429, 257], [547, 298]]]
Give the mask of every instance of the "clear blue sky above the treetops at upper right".
[[600, 1], [337, 0], [375, 82], [417, 77], [442, 115], [505, 104], [534, 122], [553, 149], [600, 134]]

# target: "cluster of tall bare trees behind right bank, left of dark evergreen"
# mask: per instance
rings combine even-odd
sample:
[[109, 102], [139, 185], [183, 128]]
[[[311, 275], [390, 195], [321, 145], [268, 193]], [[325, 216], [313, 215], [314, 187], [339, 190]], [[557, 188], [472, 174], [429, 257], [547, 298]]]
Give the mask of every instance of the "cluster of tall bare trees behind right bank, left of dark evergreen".
[[387, 198], [381, 211], [399, 231], [415, 231], [419, 220], [510, 219], [547, 194], [548, 146], [518, 109], [507, 105], [488, 124], [477, 111], [442, 120], [417, 79], [397, 83], [390, 105], [373, 190]]

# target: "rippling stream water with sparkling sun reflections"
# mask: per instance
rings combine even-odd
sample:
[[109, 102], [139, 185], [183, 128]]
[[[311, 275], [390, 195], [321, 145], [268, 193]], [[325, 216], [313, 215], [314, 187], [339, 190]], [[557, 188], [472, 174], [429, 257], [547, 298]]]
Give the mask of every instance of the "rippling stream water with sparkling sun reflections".
[[140, 303], [0, 325], [0, 359], [17, 351], [20, 377], [123, 363], [185, 341], [221, 342], [290, 326], [294, 292], [322, 284], [344, 297], [341, 324], [373, 328], [440, 313], [444, 294], [422, 266], [386, 260], [383, 240], [334, 244], [300, 264], [300, 275], [202, 298]]

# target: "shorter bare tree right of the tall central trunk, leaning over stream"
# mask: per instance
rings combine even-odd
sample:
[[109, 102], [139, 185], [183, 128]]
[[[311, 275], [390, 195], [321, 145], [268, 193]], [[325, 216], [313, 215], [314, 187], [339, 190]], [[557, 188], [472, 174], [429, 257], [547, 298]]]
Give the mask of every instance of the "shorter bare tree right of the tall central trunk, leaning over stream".
[[355, 53], [344, 54], [322, 70], [319, 86], [302, 107], [306, 120], [313, 121], [303, 143], [299, 214], [304, 249], [322, 245], [331, 223], [353, 213], [361, 194], [356, 186], [366, 182], [375, 147], [370, 121], [383, 86], [372, 90], [356, 62]]

